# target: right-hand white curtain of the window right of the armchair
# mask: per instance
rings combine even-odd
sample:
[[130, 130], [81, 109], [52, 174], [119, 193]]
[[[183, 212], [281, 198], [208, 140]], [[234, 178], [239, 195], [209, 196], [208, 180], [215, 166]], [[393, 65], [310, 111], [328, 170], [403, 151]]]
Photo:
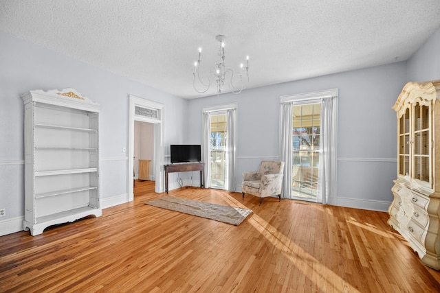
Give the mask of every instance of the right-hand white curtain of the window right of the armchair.
[[[327, 204], [335, 189], [336, 97], [321, 99], [320, 153], [317, 202]], [[334, 195], [333, 195], [334, 196]]]

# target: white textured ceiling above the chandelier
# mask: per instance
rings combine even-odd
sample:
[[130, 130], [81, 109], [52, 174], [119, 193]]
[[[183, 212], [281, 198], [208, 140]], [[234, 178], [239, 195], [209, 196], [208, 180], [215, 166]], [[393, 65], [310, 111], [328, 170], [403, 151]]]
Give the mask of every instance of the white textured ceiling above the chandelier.
[[192, 71], [218, 34], [254, 88], [406, 60], [439, 27], [439, 0], [0, 0], [3, 32], [186, 98], [215, 94]]

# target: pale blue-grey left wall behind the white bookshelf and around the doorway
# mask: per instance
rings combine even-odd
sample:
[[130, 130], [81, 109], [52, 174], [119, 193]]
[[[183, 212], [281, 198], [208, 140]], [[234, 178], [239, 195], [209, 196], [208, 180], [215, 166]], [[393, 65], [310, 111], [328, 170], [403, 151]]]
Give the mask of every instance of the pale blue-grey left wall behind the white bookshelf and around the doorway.
[[101, 105], [100, 198], [102, 207], [125, 202], [129, 146], [129, 95], [165, 105], [164, 141], [182, 143], [187, 101], [0, 32], [0, 235], [20, 231], [24, 213], [23, 101], [34, 89], [72, 87]]

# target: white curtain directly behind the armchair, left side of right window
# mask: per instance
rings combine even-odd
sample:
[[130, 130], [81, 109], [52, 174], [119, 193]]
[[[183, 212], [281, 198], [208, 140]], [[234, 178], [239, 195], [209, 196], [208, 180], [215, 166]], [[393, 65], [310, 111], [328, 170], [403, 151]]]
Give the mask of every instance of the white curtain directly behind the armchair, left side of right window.
[[280, 159], [284, 161], [283, 198], [292, 198], [292, 102], [281, 104]]

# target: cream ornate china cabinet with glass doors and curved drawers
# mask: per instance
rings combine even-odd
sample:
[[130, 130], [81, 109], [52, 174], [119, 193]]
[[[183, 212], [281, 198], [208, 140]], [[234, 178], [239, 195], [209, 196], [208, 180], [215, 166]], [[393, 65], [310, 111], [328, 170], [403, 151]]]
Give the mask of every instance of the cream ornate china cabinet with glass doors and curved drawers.
[[440, 80], [408, 82], [393, 106], [397, 179], [388, 209], [388, 224], [408, 240], [423, 263], [436, 270], [440, 269], [439, 99]]

